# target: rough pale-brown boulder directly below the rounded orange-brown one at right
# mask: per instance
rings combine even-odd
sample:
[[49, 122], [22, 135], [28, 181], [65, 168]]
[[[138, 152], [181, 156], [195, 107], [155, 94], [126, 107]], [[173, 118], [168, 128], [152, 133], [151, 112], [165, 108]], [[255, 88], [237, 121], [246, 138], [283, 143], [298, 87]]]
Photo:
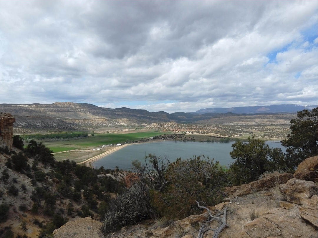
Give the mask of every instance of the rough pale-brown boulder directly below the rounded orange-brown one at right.
[[292, 203], [303, 204], [304, 200], [318, 194], [318, 186], [311, 181], [292, 178], [286, 184], [279, 185], [283, 197]]

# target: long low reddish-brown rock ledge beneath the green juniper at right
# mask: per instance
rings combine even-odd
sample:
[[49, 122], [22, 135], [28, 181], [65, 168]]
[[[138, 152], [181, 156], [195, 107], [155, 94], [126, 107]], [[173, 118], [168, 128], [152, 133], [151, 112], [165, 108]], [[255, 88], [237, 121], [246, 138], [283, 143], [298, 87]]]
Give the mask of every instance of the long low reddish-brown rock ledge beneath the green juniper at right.
[[288, 179], [292, 177], [293, 175], [291, 173], [266, 174], [264, 178], [251, 182], [249, 184], [243, 184], [240, 186], [233, 186], [233, 187], [227, 188], [225, 192], [229, 196], [240, 197], [240, 196], [250, 194], [253, 192], [268, 190], [272, 188], [273, 186], [275, 186], [276, 184], [285, 184], [288, 181]]

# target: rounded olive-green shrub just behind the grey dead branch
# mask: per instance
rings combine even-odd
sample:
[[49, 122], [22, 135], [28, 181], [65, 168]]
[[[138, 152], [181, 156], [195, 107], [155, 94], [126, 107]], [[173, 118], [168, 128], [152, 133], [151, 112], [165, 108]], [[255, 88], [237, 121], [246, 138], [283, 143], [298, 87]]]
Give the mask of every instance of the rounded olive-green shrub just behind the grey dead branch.
[[182, 219], [199, 212], [195, 201], [203, 206], [221, 202], [222, 188], [230, 184], [227, 175], [218, 162], [202, 157], [204, 159], [201, 156], [179, 158], [169, 164], [166, 190], [150, 191], [151, 205], [159, 215], [171, 214], [173, 218]]

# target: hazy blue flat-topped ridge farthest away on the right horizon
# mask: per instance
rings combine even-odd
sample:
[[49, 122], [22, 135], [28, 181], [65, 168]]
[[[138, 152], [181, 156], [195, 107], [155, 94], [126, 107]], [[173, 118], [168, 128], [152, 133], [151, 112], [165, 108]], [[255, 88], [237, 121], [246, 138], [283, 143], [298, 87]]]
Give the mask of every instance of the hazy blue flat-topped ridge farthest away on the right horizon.
[[256, 107], [232, 107], [232, 108], [202, 108], [192, 114], [202, 115], [205, 113], [228, 113], [235, 114], [257, 114], [257, 113], [295, 113], [304, 109], [316, 108], [317, 105], [297, 105], [297, 104], [278, 104], [270, 106]]

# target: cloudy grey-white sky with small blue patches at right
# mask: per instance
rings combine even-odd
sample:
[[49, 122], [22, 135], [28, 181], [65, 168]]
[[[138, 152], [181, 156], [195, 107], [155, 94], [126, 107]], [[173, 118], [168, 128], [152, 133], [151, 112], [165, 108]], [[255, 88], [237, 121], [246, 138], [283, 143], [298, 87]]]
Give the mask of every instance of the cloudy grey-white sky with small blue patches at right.
[[0, 103], [318, 105], [318, 1], [0, 1]]

